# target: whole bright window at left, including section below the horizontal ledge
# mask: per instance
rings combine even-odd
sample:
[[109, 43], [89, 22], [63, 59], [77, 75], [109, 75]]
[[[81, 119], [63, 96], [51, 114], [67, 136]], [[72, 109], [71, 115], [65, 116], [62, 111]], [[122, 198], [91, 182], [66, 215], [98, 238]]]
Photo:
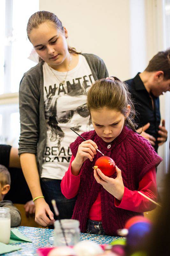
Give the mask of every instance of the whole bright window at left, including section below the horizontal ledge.
[[24, 72], [36, 65], [28, 59], [32, 44], [26, 25], [39, 10], [39, 0], [1, 0], [0, 9], [0, 143], [18, 147], [19, 82]]

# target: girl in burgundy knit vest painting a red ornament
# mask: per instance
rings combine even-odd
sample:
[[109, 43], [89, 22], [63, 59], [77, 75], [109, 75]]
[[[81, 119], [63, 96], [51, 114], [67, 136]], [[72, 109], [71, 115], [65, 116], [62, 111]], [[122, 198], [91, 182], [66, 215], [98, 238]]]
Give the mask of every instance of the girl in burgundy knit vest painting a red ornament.
[[[126, 220], [150, 211], [157, 198], [155, 167], [161, 158], [151, 144], [135, 132], [133, 104], [126, 85], [116, 77], [96, 81], [87, 96], [94, 130], [70, 144], [72, 158], [61, 182], [66, 198], [76, 195], [73, 219], [82, 232], [116, 235]], [[105, 176], [92, 167], [101, 156], [116, 163], [116, 173]]]

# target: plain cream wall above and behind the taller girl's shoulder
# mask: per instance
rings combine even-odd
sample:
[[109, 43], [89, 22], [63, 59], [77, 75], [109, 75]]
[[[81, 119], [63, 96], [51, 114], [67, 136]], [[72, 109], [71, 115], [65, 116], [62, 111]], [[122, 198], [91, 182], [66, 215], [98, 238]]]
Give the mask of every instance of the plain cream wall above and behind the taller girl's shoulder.
[[129, 0], [40, 0], [40, 11], [54, 12], [78, 51], [101, 57], [110, 75], [130, 77]]

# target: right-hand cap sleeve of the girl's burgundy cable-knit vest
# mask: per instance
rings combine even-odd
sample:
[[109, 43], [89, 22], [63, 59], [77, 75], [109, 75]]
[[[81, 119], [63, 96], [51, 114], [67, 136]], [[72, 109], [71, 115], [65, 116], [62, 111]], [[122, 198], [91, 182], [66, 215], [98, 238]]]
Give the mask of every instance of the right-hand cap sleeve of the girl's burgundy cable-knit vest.
[[138, 177], [137, 182], [139, 182], [146, 172], [160, 164], [162, 158], [155, 152], [148, 140], [135, 132], [131, 132], [128, 142], [129, 147], [130, 145], [132, 147], [129, 154], [136, 166], [136, 177]]

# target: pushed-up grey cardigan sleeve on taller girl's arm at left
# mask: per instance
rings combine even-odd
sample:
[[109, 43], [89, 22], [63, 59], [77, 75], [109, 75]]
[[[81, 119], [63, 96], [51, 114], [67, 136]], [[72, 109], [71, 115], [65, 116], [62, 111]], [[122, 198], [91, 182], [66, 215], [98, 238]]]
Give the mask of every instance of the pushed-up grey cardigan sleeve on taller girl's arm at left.
[[19, 155], [36, 154], [39, 138], [39, 91], [34, 77], [24, 75], [19, 86]]

